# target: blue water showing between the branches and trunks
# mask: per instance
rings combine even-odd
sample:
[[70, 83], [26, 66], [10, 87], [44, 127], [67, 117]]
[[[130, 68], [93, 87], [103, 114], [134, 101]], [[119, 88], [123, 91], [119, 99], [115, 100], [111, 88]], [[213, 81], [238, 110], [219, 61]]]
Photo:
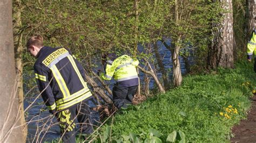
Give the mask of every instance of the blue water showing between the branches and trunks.
[[[170, 45], [170, 40], [166, 41], [167, 44]], [[163, 64], [166, 70], [171, 71], [172, 69], [172, 60], [171, 60], [171, 52], [167, 49], [160, 41], [157, 42], [159, 47], [159, 53], [163, 58]], [[140, 45], [139, 51], [143, 52], [144, 49]], [[181, 66], [181, 73], [185, 73], [185, 63], [182, 58], [179, 58], [180, 66]], [[172, 77], [172, 73], [168, 73], [169, 77]], [[140, 72], [140, 81], [143, 82], [144, 73]], [[158, 77], [161, 77], [161, 73], [157, 73]], [[160, 79], [160, 78], [159, 78]], [[110, 82], [110, 88], [114, 83], [113, 80]], [[143, 83], [142, 83], [143, 84]], [[151, 78], [150, 80], [150, 88], [154, 87], [154, 80]], [[51, 142], [53, 139], [59, 138], [60, 136], [60, 129], [58, 127], [58, 122], [56, 118], [54, 118], [49, 111], [47, 110], [46, 106], [43, 103], [42, 97], [36, 99], [36, 96], [31, 98], [25, 98], [24, 102], [24, 109], [26, 109], [31, 102], [33, 103], [32, 107], [28, 110], [28, 117], [26, 118], [27, 121], [30, 121], [28, 124], [28, 138], [27, 142], [42, 142], [42, 141], [49, 141]], [[97, 102], [97, 101], [95, 101]], [[95, 103], [94, 102], [94, 103]], [[91, 108], [95, 107], [96, 105], [93, 102], [90, 102], [89, 105]], [[95, 123], [99, 120], [99, 116], [96, 112], [92, 112], [90, 115], [94, 120]]]

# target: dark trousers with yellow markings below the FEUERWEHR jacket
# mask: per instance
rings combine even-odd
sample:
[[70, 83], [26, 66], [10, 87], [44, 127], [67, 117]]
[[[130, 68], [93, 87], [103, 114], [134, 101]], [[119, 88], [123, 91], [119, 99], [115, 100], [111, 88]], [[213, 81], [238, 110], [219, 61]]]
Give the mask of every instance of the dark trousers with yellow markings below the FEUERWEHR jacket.
[[59, 121], [60, 133], [63, 142], [76, 142], [76, 123], [79, 124], [79, 132], [89, 135], [93, 132], [90, 120], [90, 108], [87, 99], [70, 106], [68, 109], [57, 112], [56, 117]]

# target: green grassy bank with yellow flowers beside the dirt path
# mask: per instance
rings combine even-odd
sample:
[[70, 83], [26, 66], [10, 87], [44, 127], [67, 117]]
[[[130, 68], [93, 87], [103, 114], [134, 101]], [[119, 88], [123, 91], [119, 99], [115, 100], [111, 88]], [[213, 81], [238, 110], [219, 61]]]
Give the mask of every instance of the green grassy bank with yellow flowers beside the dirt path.
[[228, 141], [231, 127], [245, 118], [250, 108], [249, 97], [256, 87], [252, 66], [241, 61], [235, 69], [188, 75], [181, 87], [114, 116], [102, 128], [100, 138], [117, 142], [145, 139], [165, 142], [168, 135], [170, 140], [175, 135], [173, 131], [179, 134], [180, 130], [185, 134], [185, 141]]

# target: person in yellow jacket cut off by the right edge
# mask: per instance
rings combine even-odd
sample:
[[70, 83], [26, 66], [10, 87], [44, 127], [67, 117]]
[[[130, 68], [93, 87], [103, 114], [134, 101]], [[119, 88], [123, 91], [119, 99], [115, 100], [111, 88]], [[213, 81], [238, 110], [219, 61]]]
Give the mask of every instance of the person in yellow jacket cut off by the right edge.
[[256, 27], [252, 31], [251, 40], [247, 44], [247, 59], [252, 61], [252, 55], [254, 54], [254, 71], [256, 73]]

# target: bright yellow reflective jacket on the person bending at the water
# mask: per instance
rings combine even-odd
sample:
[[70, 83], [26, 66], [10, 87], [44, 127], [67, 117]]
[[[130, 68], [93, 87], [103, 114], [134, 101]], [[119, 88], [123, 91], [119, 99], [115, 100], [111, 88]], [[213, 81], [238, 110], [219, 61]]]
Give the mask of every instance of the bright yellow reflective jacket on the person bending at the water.
[[137, 59], [132, 59], [128, 55], [122, 55], [114, 61], [108, 60], [106, 63], [106, 73], [101, 73], [100, 78], [103, 80], [111, 80], [111, 78], [114, 77], [114, 80], [117, 82], [132, 81], [132, 84], [138, 85], [136, 67], [139, 65], [139, 61]]

